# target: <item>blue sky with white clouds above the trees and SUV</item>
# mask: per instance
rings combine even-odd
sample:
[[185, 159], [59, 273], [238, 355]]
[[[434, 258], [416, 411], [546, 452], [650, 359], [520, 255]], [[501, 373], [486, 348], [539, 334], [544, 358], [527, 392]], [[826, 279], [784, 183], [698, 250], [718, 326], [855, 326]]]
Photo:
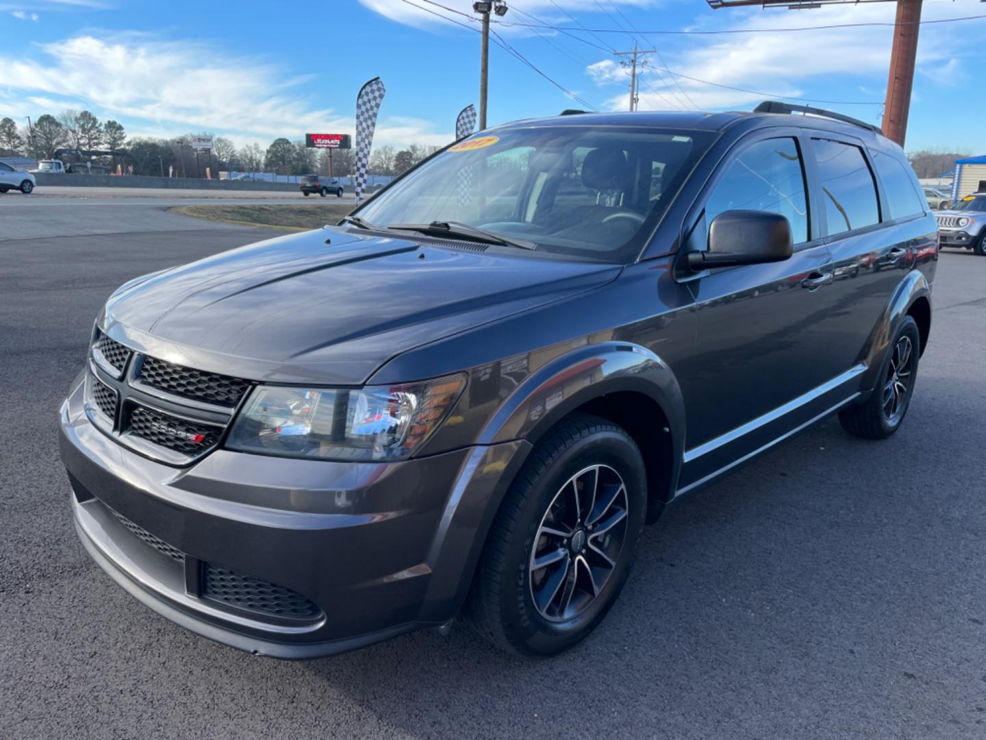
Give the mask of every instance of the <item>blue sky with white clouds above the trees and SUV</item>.
[[[89, 110], [130, 136], [209, 132], [266, 147], [279, 136], [353, 132], [356, 95], [380, 76], [387, 96], [375, 144], [444, 145], [458, 111], [478, 103], [480, 36], [471, 0], [439, 1], [0, 0], [0, 116], [25, 124]], [[628, 57], [613, 52], [634, 41], [657, 49], [642, 57], [640, 110], [750, 110], [784, 96], [880, 123], [891, 28], [818, 27], [892, 24], [894, 3], [507, 5], [492, 25], [491, 125], [625, 110]], [[922, 19], [982, 15], [978, 0], [925, 0]], [[658, 33], [670, 31], [690, 33]], [[742, 33], [697, 33], [722, 31]], [[986, 18], [922, 26], [908, 151], [986, 154], [984, 35]]]

